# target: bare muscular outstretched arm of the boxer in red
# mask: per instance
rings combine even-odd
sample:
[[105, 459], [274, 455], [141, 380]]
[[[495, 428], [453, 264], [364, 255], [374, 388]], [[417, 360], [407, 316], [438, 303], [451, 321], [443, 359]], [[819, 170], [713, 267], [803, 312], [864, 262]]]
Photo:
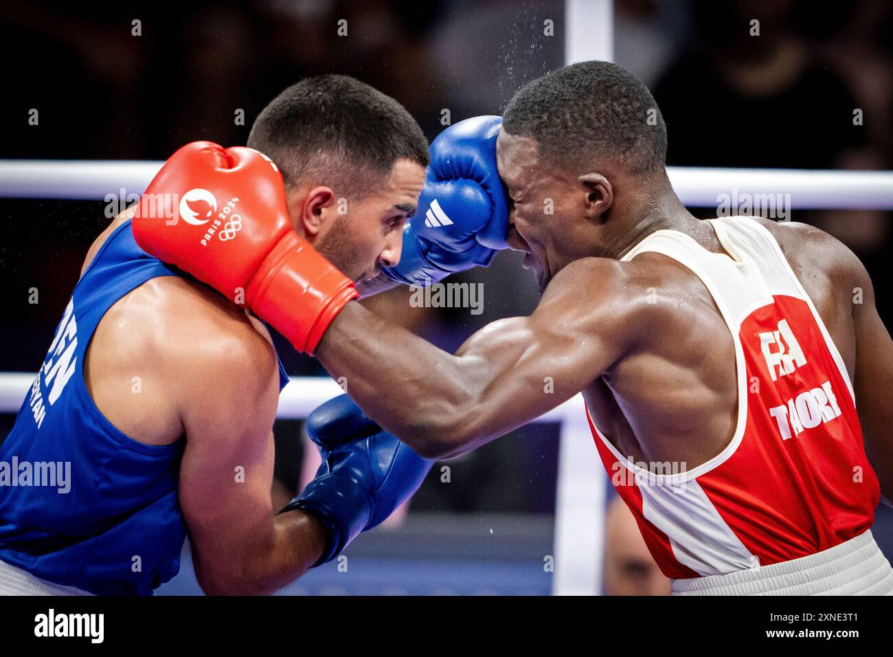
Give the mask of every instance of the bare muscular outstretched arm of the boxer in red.
[[613, 261], [573, 263], [532, 316], [488, 324], [455, 355], [351, 303], [316, 356], [415, 451], [454, 457], [554, 409], [620, 357], [636, 312], [624, 282]]

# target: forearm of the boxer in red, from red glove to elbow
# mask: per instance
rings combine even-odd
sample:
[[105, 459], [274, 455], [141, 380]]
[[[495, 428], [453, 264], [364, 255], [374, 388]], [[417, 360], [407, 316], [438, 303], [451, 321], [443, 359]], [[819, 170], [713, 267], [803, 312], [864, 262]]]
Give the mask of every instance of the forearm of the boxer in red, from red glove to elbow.
[[358, 303], [336, 317], [315, 355], [330, 375], [344, 377], [370, 417], [425, 456], [460, 422], [479, 385], [461, 358]]

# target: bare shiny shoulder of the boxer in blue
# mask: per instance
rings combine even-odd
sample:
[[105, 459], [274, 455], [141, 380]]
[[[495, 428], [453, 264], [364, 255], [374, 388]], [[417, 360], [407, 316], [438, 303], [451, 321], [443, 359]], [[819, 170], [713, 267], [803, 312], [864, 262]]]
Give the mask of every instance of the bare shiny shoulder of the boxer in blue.
[[[154, 278], [119, 300], [96, 329], [88, 380], [96, 404], [141, 442], [173, 442], [188, 418], [275, 416], [279, 369], [263, 324], [204, 285]], [[141, 394], [121, 404], [138, 375]]]

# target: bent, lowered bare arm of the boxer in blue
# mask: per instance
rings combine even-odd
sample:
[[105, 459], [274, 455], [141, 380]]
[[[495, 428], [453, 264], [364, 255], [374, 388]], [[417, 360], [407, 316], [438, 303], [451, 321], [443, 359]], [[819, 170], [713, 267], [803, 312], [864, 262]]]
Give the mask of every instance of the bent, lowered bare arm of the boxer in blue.
[[319, 559], [325, 536], [303, 512], [274, 515], [275, 357], [250, 326], [227, 328], [230, 335], [203, 348], [206, 358], [191, 359], [182, 374], [183, 389], [194, 393], [181, 411], [187, 446], [179, 501], [205, 593], [270, 594]]

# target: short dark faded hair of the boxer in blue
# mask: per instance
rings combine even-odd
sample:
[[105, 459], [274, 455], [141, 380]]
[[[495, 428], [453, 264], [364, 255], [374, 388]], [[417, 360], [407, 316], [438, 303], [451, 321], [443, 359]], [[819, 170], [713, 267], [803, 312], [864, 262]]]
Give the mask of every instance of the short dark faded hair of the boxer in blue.
[[325, 184], [337, 194], [374, 191], [396, 160], [428, 166], [428, 139], [403, 105], [346, 75], [305, 78], [257, 116], [248, 146], [279, 166], [287, 188]]

